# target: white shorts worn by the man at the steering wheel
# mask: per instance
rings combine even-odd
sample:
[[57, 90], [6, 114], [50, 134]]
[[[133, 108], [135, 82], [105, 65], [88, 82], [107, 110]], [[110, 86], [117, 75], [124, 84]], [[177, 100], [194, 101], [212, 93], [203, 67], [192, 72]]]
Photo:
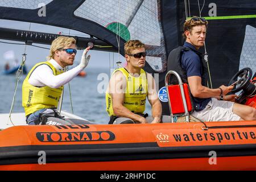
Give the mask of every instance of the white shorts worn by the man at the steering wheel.
[[219, 101], [212, 98], [201, 111], [194, 111], [191, 115], [201, 121], [240, 121], [241, 117], [233, 113], [234, 102]]

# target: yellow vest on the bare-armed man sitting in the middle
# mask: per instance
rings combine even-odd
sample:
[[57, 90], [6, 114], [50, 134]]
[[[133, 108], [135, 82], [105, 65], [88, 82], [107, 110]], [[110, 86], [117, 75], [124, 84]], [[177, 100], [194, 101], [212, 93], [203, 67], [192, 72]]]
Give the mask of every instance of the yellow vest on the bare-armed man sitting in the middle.
[[[116, 69], [121, 71], [126, 77], [125, 100], [123, 106], [134, 113], [143, 113], [146, 106], [147, 97], [147, 76], [146, 72], [141, 69], [139, 77], [134, 77], [127, 72], [125, 68]], [[106, 111], [109, 115], [115, 115], [113, 111], [113, 101], [111, 95], [106, 92]]]

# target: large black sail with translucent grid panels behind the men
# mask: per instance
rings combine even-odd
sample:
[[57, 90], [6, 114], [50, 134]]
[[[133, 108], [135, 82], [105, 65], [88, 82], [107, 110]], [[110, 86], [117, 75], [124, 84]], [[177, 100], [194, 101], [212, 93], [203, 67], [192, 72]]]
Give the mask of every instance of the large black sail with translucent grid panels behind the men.
[[[227, 84], [239, 69], [255, 68], [256, 2], [255, 0], [47, 0], [46, 16], [39, 16], [39, 1], [1, 1], [0, 19], [40, 23], [70, 28], [95, 38], [99, 50], [124, 56], [123, 45], [129, 39], [140, 39], [148, 52], [146, 71], [155, 77], [158, 90], [164, 87], [168, 54], [183, 45], [183, 23], [189, 16], [202, 16], [208, 22], [205, 46], [213, 88]], [[200, 13], [201, 11], [201, 13]], [[0, 32], [6, 32], [0, 24]], [[18, 31], [17, 31], [18, 32]], [[25, 31], [24, 31], [25, 32]], [[17, 35], [21, 35], [18, 34]], [[14, 30], [0, 39], [34, 41], [51, 44], [53, 39], [17, 38]], [[23, 34], [22, 34], [23, 35]], [[31, 34], [32, 35], [32, 34]], [[34, 35], [34, 34], [33, 34]], [[52, 35], [52, 37], [57, 35]], [[79, 39], [81, 47], [89, 39]], [[202, 53], [205, 52], [201, 48]], [[163, 114], [170, 114], [162, 102]], [[103, 103], [102, 103], [103, 104]]]

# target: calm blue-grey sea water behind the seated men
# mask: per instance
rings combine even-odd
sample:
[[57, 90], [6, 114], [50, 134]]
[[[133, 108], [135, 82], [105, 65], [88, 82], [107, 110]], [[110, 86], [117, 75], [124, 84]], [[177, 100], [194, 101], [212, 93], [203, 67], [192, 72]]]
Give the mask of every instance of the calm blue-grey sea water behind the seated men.
[[[31, 67], [28, 66], [28, 70]], [[2, 71], [3, 65], [0, 65], [0, 113], [9, 113], [14, 96], [16, 76], [3, 75]], [[73, 112], [89, 121], [108, 123], [109, 117], [105, 111], [106, 88], [104, 87], [104, 80], [106, 82], [106, 78], [109, 78], [110, 70], [108, 68], [85, 68], [85, 71], [87, 73], [86, 77], [75, 77], [70, 82]], [[19, 81], [13, 113], [24, 112], [22, 107], [22, 82], [25, 77], [26, 75], [23, 75]], [[62, 110], [72, 113], [68, 84], [64, 87]], [[148, 102], [146, 112], [151, 113]]]

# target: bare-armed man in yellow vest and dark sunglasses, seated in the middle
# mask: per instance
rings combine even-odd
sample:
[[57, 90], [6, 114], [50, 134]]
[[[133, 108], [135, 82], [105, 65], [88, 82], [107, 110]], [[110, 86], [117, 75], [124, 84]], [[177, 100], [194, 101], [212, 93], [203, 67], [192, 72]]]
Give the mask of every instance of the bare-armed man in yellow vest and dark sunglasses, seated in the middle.
[[[126, 42], [125, 59], [127, 66], [114, 71], [106, 91], [109, 124], [161, 122], [162, 105], [155, 80], [142, 69], [146, 62], [144, 44], [139, 40]], [[152, 117], [143, 114], [146, 97], [152, 107]]]

